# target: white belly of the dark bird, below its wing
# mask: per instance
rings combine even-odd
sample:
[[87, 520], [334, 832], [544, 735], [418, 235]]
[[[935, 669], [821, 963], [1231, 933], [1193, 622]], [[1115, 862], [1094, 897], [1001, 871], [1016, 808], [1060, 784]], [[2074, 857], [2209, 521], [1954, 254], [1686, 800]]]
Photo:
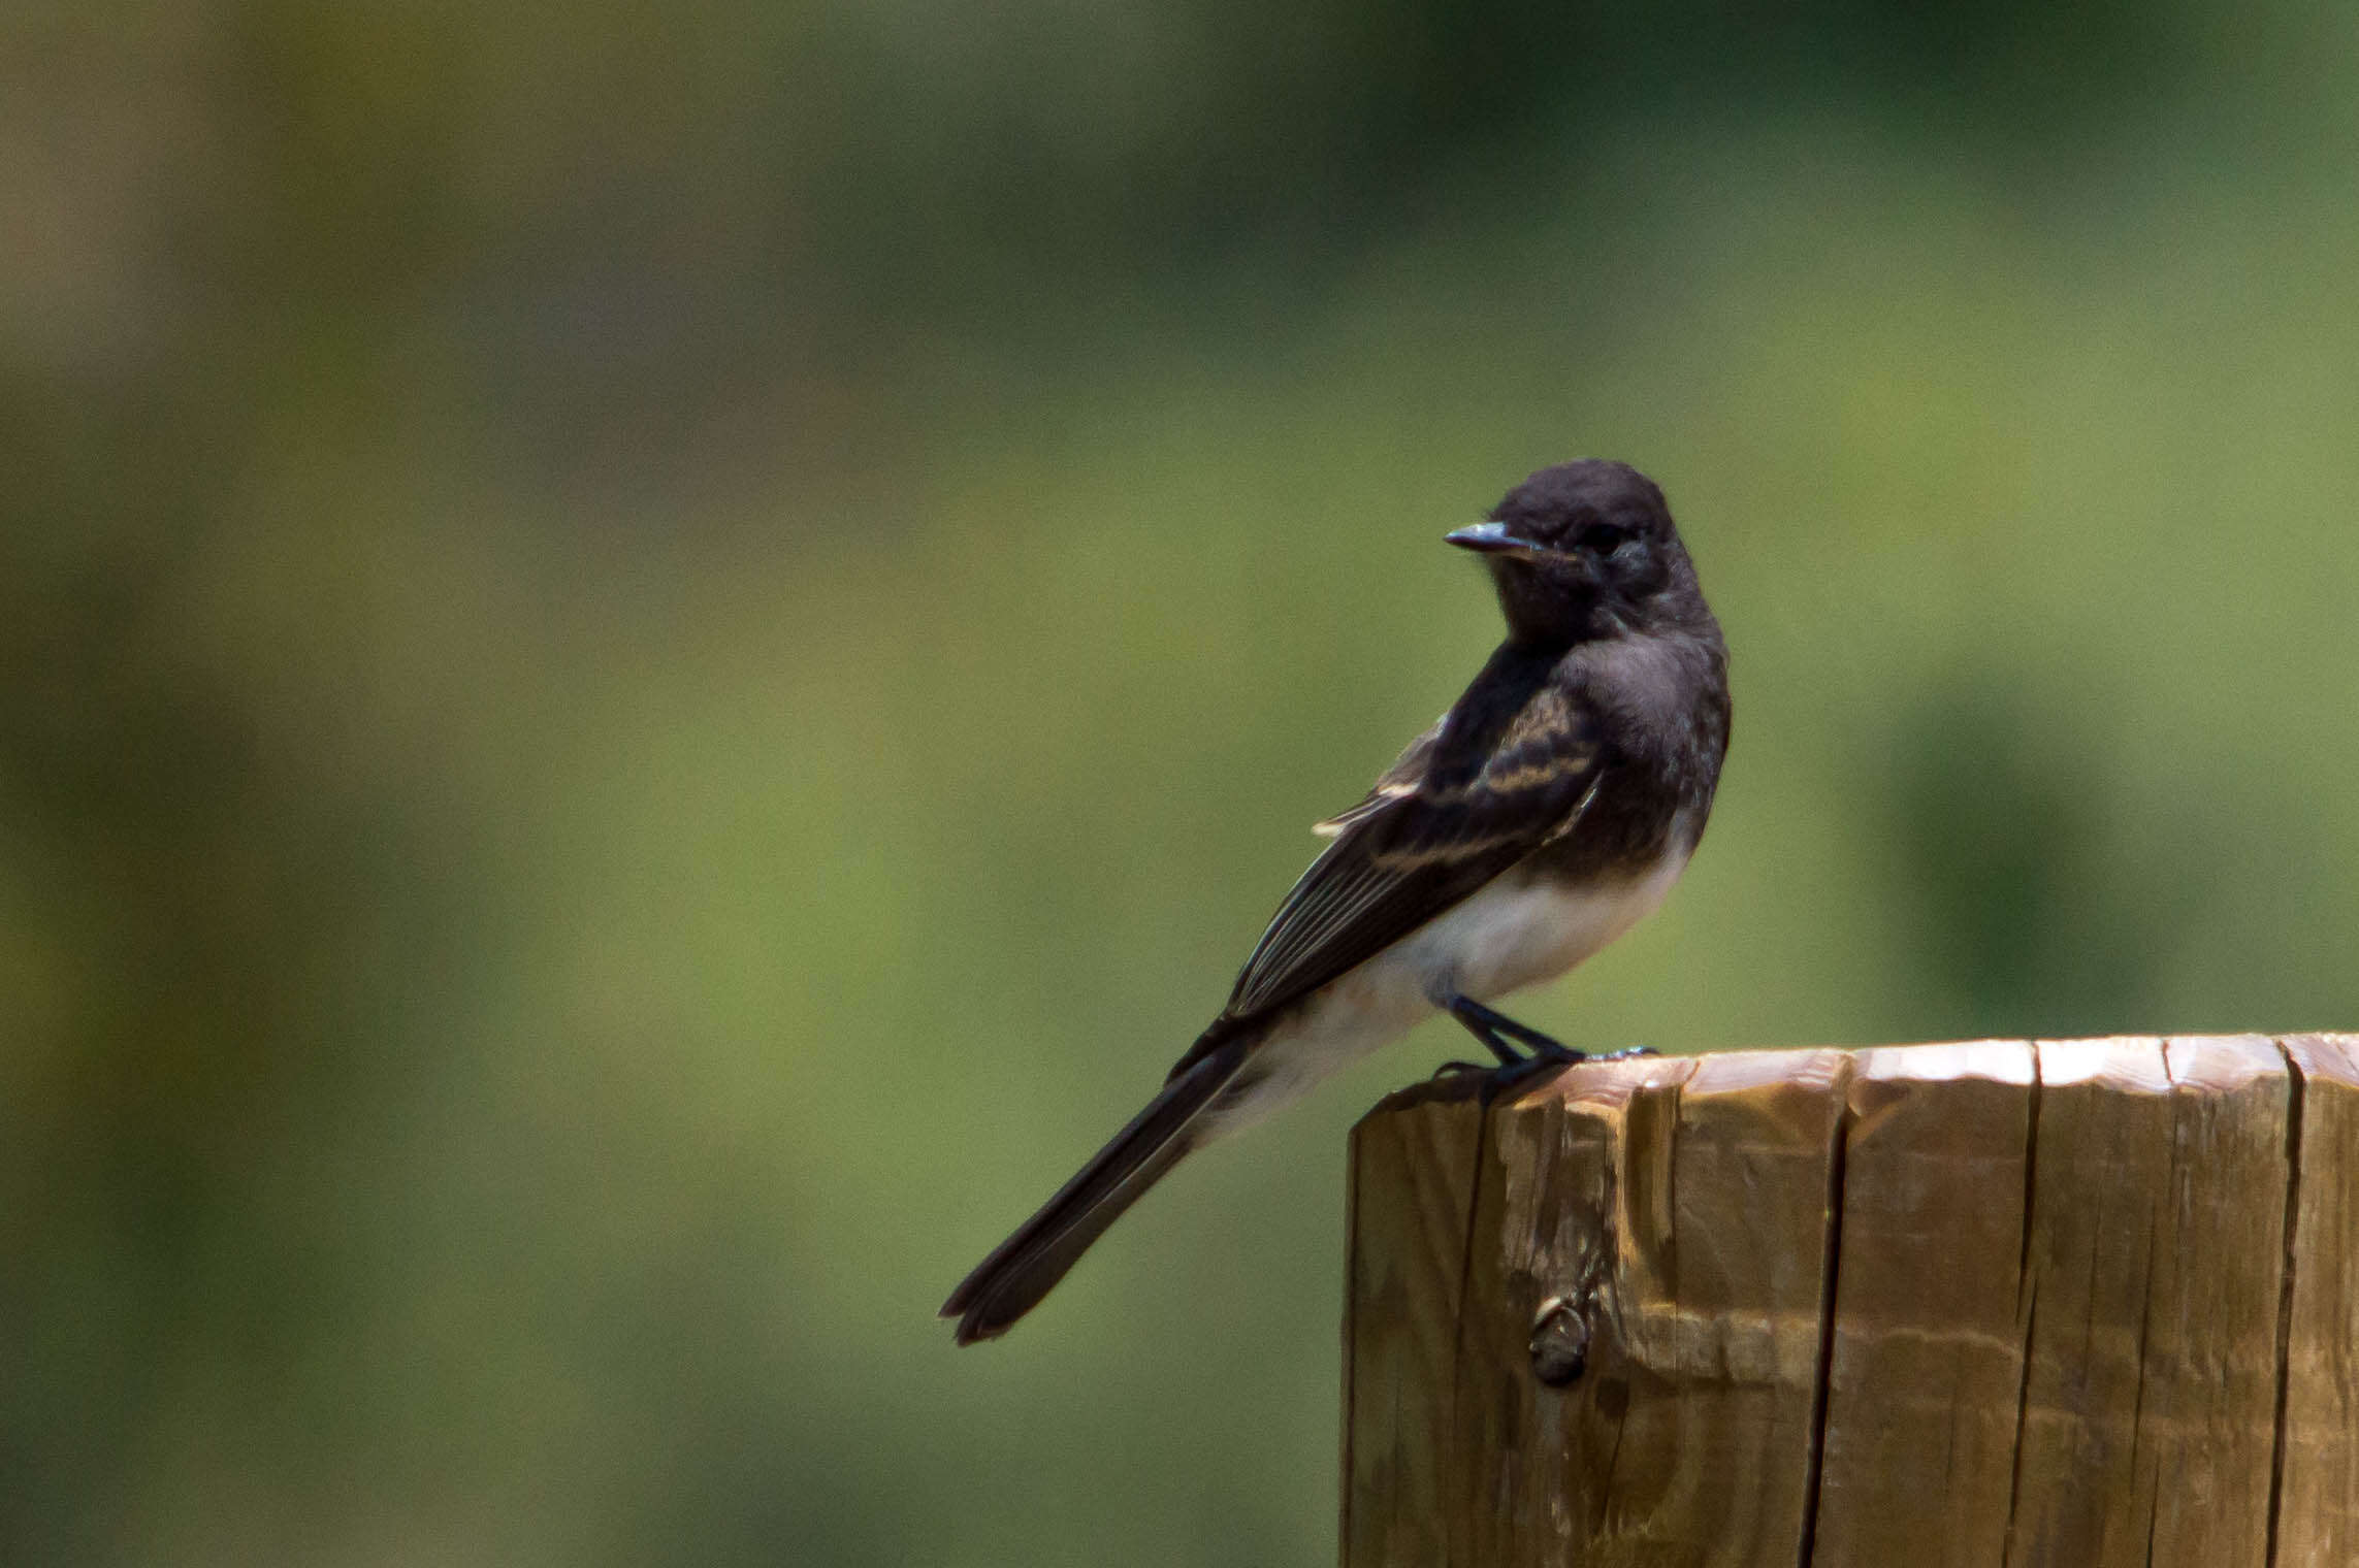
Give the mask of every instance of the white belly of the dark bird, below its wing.
[[1448, 993], [1477, 1002], [1566, 974], [1651, 915], [1687, 870], [1689, 844], [1654, 870], [1602, 889], [1566, 891], [1510, 872], [1437, 915], [1349, 974], [1312, 993], [1253, 1047], [1257, 1075], [1210, 1113], [1215, 1134], [1248, 1127], [1312, 1085], [1392, 1045]]

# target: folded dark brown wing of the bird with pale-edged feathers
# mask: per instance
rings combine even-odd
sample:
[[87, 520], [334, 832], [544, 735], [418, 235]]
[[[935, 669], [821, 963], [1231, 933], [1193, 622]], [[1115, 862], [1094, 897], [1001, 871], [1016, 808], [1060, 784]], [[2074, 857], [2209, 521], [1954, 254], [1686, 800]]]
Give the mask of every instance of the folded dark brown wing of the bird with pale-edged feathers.
[[[1493, 681], [1491, 677], [1503, 679]], [[1595, 717], [1540, 667], [1486, 670], [1439, 733], [1411, 745], [1279, 905], [1224, 1019], [1319, 990], [1569, 830], [1597, 783]], [[1408, 788], [1399, 788], [1408, 785]]]

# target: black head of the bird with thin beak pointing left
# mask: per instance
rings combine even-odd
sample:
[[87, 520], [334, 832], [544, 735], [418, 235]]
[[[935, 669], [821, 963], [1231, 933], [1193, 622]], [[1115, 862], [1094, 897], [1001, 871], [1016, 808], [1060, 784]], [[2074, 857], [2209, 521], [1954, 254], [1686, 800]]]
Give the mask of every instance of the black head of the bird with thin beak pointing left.
[[1444, 538], [1489, 556], [1517, 641], [1611, 637], [1703, 611], [1663, 493], [1628, 462], [1540, 469], [1489, 519]]

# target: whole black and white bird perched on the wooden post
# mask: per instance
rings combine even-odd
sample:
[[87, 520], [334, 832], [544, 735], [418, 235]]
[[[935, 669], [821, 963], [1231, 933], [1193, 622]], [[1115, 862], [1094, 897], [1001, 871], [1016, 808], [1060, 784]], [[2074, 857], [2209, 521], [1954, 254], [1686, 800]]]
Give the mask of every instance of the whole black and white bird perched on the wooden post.
[[1564, 974], [1680, 879], [1729, 750], [1729, 651], [1663, 493], [1628, 465], [1540, 469], [1448, 542], [1489, 559], [1507, 641], [1319, 823], [1335, 842], [1163, 1092], [951, 1292], [960, 1344], [1031, 1311], [1180, 1155], [1434, 1009], [1507, 1075], [1581, 1061], [1486, 1002]]

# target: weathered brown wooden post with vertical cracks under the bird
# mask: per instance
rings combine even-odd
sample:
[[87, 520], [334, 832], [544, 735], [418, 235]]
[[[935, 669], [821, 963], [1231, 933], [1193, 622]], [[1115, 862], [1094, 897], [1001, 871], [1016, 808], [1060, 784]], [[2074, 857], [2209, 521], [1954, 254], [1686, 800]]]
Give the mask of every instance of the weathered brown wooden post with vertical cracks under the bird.
[[1477, 1087], [1352, 1134], [1345, 1568], [2359, 1563], [2359, 1035]]

